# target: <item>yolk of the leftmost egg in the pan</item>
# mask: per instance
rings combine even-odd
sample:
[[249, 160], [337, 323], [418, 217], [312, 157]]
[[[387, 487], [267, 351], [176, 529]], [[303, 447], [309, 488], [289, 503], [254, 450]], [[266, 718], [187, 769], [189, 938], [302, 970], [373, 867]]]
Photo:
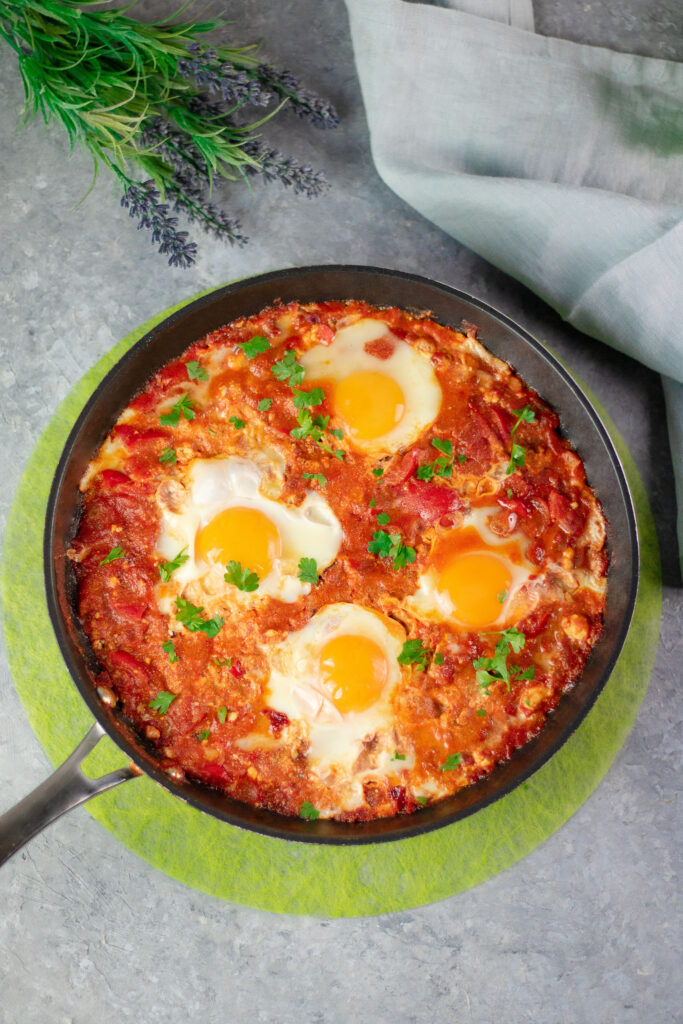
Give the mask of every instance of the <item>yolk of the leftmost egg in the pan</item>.
[[281, 554], [275, 524], [259, 509], [223, 509], [203, 526], [195, 540], [195, 554], [205, 562], [241, 562], [263, 579]]

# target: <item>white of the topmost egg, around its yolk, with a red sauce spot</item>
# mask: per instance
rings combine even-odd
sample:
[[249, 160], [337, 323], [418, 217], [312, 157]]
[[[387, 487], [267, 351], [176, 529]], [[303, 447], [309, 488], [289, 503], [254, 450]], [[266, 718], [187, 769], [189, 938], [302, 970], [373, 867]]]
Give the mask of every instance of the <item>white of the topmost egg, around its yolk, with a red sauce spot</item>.
[[[366, 351], [369, 342], [387, 336], [394, 346], [388, 358], [380, 359]], [[330, 345], [308, 349], [300, 361], [310, 380], [338, 382], [351, 374], [370, 371], [393, 378], [399, 386], [404, 399], [399, 422], [381, 437], [350, 436], [351, 443], [367, 455], [389, 455], [413, 443], [438, 415], [441, 388], [429, 356], [393, 335], [383, 321], [358, 319], [337, 331]]]

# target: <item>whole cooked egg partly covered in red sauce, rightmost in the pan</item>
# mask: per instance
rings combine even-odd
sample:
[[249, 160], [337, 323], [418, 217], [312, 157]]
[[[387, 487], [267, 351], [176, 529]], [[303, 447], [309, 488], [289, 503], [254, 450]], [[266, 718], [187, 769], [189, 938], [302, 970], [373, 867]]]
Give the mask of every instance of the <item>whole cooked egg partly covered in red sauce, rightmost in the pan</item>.
[[416, 613], [470, 630], [520, 617], [530, 600], [529, 577], [539, 570], [525, 558], [527, 541], [521, 534], [502, 538], [487, 527], [496, 511], [472, 509], [457, 529], [437, 536], [427, 569], [409, 598]]

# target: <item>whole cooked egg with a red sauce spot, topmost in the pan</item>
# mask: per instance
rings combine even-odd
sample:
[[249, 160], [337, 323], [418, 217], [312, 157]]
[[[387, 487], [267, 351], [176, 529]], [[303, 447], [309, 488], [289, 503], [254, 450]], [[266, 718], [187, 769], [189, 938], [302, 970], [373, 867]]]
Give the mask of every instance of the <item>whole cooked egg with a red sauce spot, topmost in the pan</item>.
[[438, 415], [441, 388], [429, 356], [383, 321], [364, 318], [342, 328], [330, 345], [305, 352], [301, 364], [307, 382], [328, 391], [352, 444], [368, 455], [411, 444]]

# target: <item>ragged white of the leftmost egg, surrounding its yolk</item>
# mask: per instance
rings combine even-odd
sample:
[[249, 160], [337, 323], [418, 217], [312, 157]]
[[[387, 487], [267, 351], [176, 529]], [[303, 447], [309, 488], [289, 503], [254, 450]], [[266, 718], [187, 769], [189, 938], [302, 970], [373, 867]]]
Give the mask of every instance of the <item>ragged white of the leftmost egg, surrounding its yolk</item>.
[[[161, 561], [170, 561], [184, 548], [185, 561], [170, 582], [157, 588], [157, 603], [166, 614], [182, 594], [211, 611], [222, 603], [253, 602], [259, 597], [276, 597], [293, 602], [310, 593], [311, 585], [297, 575], [302, 557], [314, 558], [318, 571], [330, 565], [339, 551], [342, 527], [322, 495], [310, 492], [301, 505], [286, 505], [263, 492], [276, 492], [280, 467], [266, 479], [264, 468], [251, 460], [196, 459], [189, 466], [186, 485], [176, 487], [172, 500], [162, 497], [161, 530], [157, 552]], [[282, 540], [282, 556], [259, 581], [258, 590], [244, 592], [225, 583], [225, 566], [207, 564], [195, 556], [199, 530], [224, 509], [240, 507], [262, 512], [274, 523]], [[248, 566], [244, 566], [248, 568]]]

